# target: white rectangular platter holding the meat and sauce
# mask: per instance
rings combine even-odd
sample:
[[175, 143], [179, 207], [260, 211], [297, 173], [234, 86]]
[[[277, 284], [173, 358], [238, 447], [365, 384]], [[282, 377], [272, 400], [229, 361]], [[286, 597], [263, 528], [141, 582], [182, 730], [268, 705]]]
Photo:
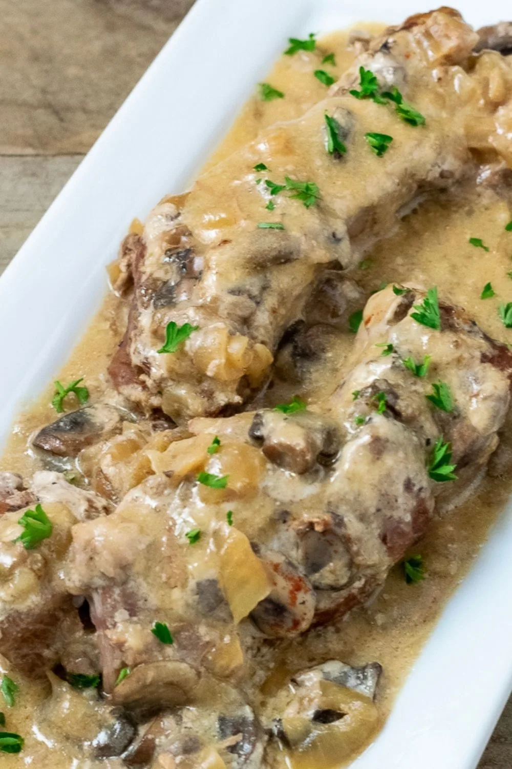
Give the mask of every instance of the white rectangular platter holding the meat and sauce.
[[[475, 26], [504, 0], [461, 0]], [[134, 216], [183, 191], [286, 39], [400, 22], [409, 0], [197, 0], [0, 279], [0, 439], [55, 375], [106, 289]], [[512, 689], [512, 505], [444, 610], [354, 769], [474, 769]]]

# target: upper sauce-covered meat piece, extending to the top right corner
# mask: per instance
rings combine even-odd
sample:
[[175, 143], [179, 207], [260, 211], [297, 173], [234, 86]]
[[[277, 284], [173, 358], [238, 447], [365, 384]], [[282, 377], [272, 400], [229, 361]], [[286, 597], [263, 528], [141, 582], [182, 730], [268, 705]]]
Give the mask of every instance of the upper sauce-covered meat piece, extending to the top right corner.
[[[326, 267], [354, 267], [422, 196], [461, 178], [468, 145], [492, 152], [490, 137], [499, 133], [494, 149], [506, 155], [510, 67], [501, 57], [503, 87], [491, 93], [486, 57], [500, 57], [487, 52], [466, 72], [476, 42], [457, 12], [412, 17], [373, 41], [302, 118], [267, 128], [189, 194], [165, 198], [137, 249], [129, 236], [134, 299], [110, 369], [116, 386], [180, 422], [241, 404], [265, 380], [283, 331], [301, 317]], [[398, 87], [426, 124], [408, 125], [391, 102], [350, 95], [360, 66], [375, 72], [381, 90]], [[342, 156], [326, 151], [326, 113], [339, 126]], [[365, 140], [376, 127], [393, 138], [380, 158]], [[268, 169], [255, 171], [259, 163]], [[286, 178], [312, 182], [318, 194], [310, 187], [305, 200], [302, 188], [301, 201], [300, 191], [299, 200], [297, 190], [276, 191]], [[159, 353], [170, 322], [197, 330], [177, 351]]]

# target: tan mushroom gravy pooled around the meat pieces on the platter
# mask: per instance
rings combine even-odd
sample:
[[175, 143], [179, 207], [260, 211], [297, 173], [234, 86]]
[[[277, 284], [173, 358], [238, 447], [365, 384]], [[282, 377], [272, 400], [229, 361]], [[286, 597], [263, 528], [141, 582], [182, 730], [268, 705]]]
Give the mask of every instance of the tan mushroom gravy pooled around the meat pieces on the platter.
[[[377, 27], [369, 29], [375, 34]], [[237, 148], [255, 138], [262, 128], [278, 120], [296, 118], [319, 102], [325, 96], [325, 85], [312, 73], [325, 66], [333, 76], [341, 75], [351, 65], [357, 52], [357, 42], [354, 48], [353, 43], [348, 45], [348, 39], [347, 32], [336, 33], [322, 38], [314, 52], [301, 51], [292, 57], [283, 56], [267, 79], [275, 88], [286, 93], [286, 98], [271, 102], [262, 102], [256, 96], [250, 98], [206, 168], [229, 157]], [[335, 67], [321, 64], [322, 58], [330, 52], [335, 53]], [[476, 185], [471, 175], [464, 178], [451, 190], [421, 202], [403, 219], [395, 235], [381, 241], [365, 256], [358, 270], [351, 274], [359, 288], [355, 289], [349, 301], [354, 304], [354, 310], [362, 308], [372, 292], [378, 291], [383, 283], [424, 288], [437, 285], [442, 297], [466, 308], [488, 335], [499, 341], [512, 342], [512, 331], [504, 328], [497, 312], [500, 303], [512, 301], [512, 280], [508, 275], [512, 270], [512, 232], [505, 231], [510, 218], [512, 215], [506, 196], [486, 185]], [[137, 230], [137, 225], [134, 228]], [[479, 238], [487, 250], [471, 245], [470, 238]], [[481, 292], [488, 282], [492, 284], [494, 295], [481, 299]], [[314, 316], [315, 308], [309, 308], [309, 311]], [[114, 398], [106, 372], [125, 322], [123, 301], [114, 294], [108, 295], [58, 379], [67, 383], [83, 377], [90, 391], [91, 403]], [[348, 328], [322, 328], [322, 354], [298, 374], [294, 369], [292, 378], [289, 376], [286, 346], [279, 351], [273, 379], [258, 396], [257, 408], [287, 403], [294, 396], [316, 402], [332, 395], [335, 384], [348, 371], [354, 335]], [[48, 387], [43, 396], [21, 415], [0, 460], [0, 469], [18, 472], [24, 478], [41, 469], [43, 460], [41, 454], [31, 448], [31, 438], [42, 425], [55, 419], [55, 411], [50, 405], [53, 393], [54, 388]], [[509, 418], [504, 430], [505, 448], [511, 440], [510, 427]], [[48, 458], [45, 462], [45, 467], [48, 467]], [[53, 466], [59, 470], [76, 470], [74, 461], [66, 459], [55, 459]], [[275, 696], [289, 675], [296, 671], [330, 659], [354, 666], [378, 661], [383, 668], [376, 698], [378, 717], [368, 728], [366, 744], [378, 725], [385, 721], [395, 695], [434, 628], [445, 602], [471, 567], [489, 528], [504, 508], [512, 491], [507, 469], [500, 467], [498, 458], [494, 464], [491, 459], [491, 472], [472, 496], [454, 511], [431, 521], [424, 538], [414, 548], [414, 553], [420, 553], [424, 559], [424, 580], [406, 584], [402, 567], [395, 567], [378, 596], [367, 606], [353, 610], [343, 621], [312, 629], [291, 640], [259, 641], [252, 656], [248, 656], [247, 681], [250, 683], [246, 684], [256, 713], [264, 711], [269, 697]], [[32, 764], [41, 769], [117, 769], [132, 765], [117, 757], [84, 760], [80, 748], [72, 747], [81, 739], [90, 740], [91, 734], [97, 730], [98, 715], [91, 690], [70, 689], [54, 676], [51, 680], [54, 689], [52, 704], [45, 707], [43, 703], [48, 700], [50, 692], [48, 681], [29, 679], [7, 662], [2, 663], [0, 672], [8, 674], [19, 686], [15, 706], [2, 707], [6, 728], [25, 738], [25, 747], [20, 754], [0, 754], [2, 766]], [[205, 712], [209, 702], [213, 709], [218, 707], [218, 702], [211, 703], [214, 699], [211, 691], [204, 691], [202, 696], [204, 704], [201, 707], [205, 708]], [[242, 707], [237, 701], [232, 701], [233, 695], [227, 687], [224, 691], [221, 686], [216, 696], [228, 711], [232, 708], [233, 712], [238, 712]], [[208, 731], [210, 725], [206, 715], [204, 718], [204, 728]], [[68, 737], [65, 740], [61, 738], [59, 721], [66, 724]], [[170, 728], [169, 724], [167, 727]], [[292, 750], [283, 749], [282, 753], [273, 751], [269, 754], [269, 765], [286, 765], [292, 769], [334, 769], [358, 754], [365, 744], [349, 746], [345, 748], [345, 754], [336, 741], [326, 742], [319, 752], [306, 756]], [[216, 757], [206, 754], [202, 763], [194, 761], [193, 758], [184, 758], [179, 767], [223, 769], [225, 765], [215, 763]], [[137, 765], [174, 769], [176, 764], [170, 761], [166, 764], [163, 759], [158, 763], [157, 759], [154, 764]]]

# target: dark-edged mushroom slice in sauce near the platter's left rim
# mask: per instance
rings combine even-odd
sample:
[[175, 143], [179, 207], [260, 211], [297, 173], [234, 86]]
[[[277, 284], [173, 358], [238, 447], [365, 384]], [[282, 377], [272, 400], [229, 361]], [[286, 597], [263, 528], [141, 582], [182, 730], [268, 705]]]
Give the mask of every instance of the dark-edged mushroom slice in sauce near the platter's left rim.
[[121, 412], [114, 406], [86, 406], [47, 424], [32, 444], [58, 457], [76, 457], [86, 446], [121, 431], [121, 420]]

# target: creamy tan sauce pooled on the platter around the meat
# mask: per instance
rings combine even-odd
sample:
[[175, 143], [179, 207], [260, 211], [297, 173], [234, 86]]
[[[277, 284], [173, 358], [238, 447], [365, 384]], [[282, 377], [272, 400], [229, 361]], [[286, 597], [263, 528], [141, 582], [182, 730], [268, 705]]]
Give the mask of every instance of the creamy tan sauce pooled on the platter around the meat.
[[[285, 92], [286, 98], [273, 102], [261, 102], [256, 97], [249, 99], [206, 167], [210, 168], [252, 140], [261, 128], [277, 120], [296, 118], [323, 98], [325, 86], [312, 76], [312, 71], [319, 68], [319, 56], [330, 52], [335, 53], [336, 66], [325, 65], [325, 69], [338, 76], [354, 55], [353, 49], [347, 46], [346, 33], [323, 38], [315, 53], [283, 56], [266, 79]], [[512, 342], [512, 331], [504, 328], [497, 315], [498, 305], [512, 300], [512, 280], [507, 275], [512, 269], [512, 232], [504, 231], [509, 220], [510, 211], [504, 200], [490, 190], [476, 191], [471, 182], [460, 185], [444, 199], [425, 202], [405, 218], [392, 238], [365, 258], [365, 264], [354, 275], [365, 292], [361, 306], [383, 282], [437, 285], [441, 296], [467, 308], [489, 335]], [[481, 238], [489, 251], [470, 245], [469, 238]], [[481, 291], [488, 281], [495, 296], [482, 300]], [[120, 313], [119, 300], [109, 295], [58, 374], [62, 382], [84, 377], [93, 401], [107, 387], [105, 372], [121, 335], [122, 322], [117, 321]], [[329, 381], [339, 377], [352, 343], [353, 335], [348, 331], [336, 332], [328, 356], [328, 375], [322, 368], [305, 381], [292, 385], [276, 377], [263, 403], [273, 405], [295, 394], [313, 400], [329, 394], [332, 390]], [[28, 477], [41, 467], [40, 458], [27, 447], [34, 431], [55, 418], [50, 405], [53, 391], [53, 387], [48, 386], [41, 398], [18, 419], [0, 460], [1, 469]], [[258, 680], [266, 674], [263, 699], [275, 693], [290, 672], [330, 657], [348, 664], [377, 660], [385, 671], [378, 693], [378, 708], [384, 720], [445, 602], [471, 567], [510, 491], [510, 480], [487, 477], [469, 501], [431, 524], [428, 534], [415, 548], [427, 564], [424, 581], [405, 584], [401, 568], [395, 568], [381, 594], [368, 608], [353, 611], [338, 624], [283, 642], [277, 661], [270, 644], [257, 661]], [[51, 741], [45, 744], [35, 731], [32, 714], [35, 705], [48, 696], [48, 685], [31, 683], [18, 674], [15, 677], [20, 686], [17, 704], [2, 709], [8, 718], [9, 731], [25, 737], [25, 749], [19, 756], [2, 754], [2, 766], [13, 769], [25, 765], [38, 769], [85, 766], [79, 755], [71, 757]], [[74, 715], [71, 713], [70, 717]], [[323, 769], [327, 765], [324, 763]], [[104, 766], [118, 767], [121, 762], [111, 759], [105, 761]]]

